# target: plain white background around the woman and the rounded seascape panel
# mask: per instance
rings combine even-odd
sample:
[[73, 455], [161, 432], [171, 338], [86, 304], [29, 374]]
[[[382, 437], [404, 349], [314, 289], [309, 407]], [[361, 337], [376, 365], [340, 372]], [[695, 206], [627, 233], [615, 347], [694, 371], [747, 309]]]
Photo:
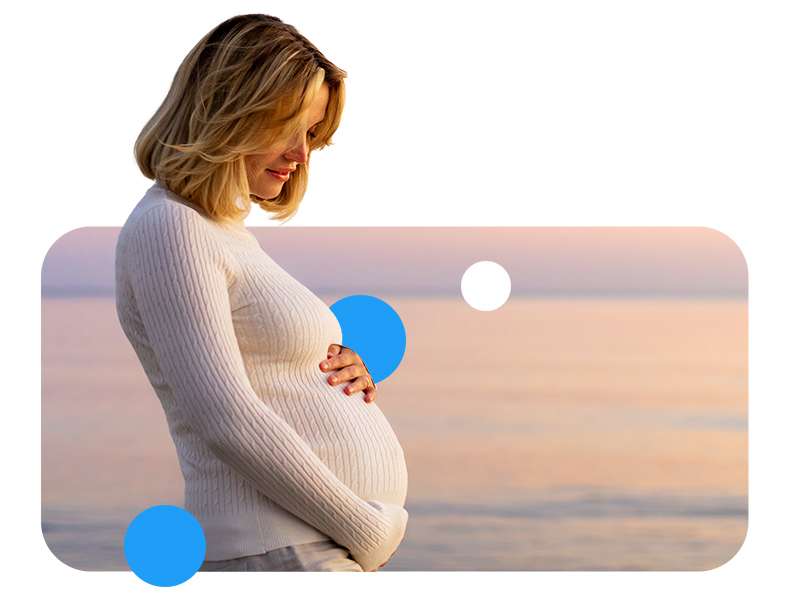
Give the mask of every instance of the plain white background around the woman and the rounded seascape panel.
[[[37, 595], [525, 593], [777, 597], [796, 589], [800, 9], [795, 2], [19, 3], [4, 9], [5, 589]], [[234, 14], [292, 23], [348, 71], [336, 145], [297, 225], [686, 225], [750, 272], [750, 530], [707, 573], [83, 573], [40, 530], [39, 270], [60, 235], [121, 225], [132, 145], [189, 49]], [[251, 225], [264, 224], [252, 217]], [[358, 268], [358, 252], [325, 260]], [[612, 591], [613, 590], [613, 591]], [[20, 591], [19, 594], [24, 594]], [[303, 594], [305, 595], [305, 594]]]

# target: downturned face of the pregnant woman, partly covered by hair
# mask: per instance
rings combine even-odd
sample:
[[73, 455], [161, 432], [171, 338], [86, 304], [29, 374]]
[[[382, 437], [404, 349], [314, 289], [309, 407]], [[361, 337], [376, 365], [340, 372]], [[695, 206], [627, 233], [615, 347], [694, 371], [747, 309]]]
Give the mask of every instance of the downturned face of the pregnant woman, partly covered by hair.
[[308, 160], [308, 142], [314, 136], [317, 125], [325, 118], [328, 96], [328, 84], [323, 83], [306, 113], [304, 135], [298, 136], [282, 148], [276, 148], [273, 152], [245, 156], [247, 183], [250, 185], [251, 194], [264, 200], [277, 197], [297, 165]]

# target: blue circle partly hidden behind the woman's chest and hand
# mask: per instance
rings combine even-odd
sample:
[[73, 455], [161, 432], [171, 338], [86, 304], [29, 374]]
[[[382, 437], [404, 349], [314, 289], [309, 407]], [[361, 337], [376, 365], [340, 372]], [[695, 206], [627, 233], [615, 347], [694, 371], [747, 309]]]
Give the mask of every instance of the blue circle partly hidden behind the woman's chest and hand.
[[406, 352], [406, 330], [395, 310], [373, 296], [348, 296], [331, 310], [342, 328], [342, 345], [361, 357], [372, 380], [394, 373]]

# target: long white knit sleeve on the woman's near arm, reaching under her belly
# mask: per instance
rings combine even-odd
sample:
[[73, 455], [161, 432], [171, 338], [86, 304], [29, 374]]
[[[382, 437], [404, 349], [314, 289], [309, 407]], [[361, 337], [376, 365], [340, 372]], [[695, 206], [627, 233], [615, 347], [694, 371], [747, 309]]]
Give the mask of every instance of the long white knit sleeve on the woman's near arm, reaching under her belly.
[[154, 207], [125, 241], [123, 268], [165, 382], [214, 454], [371, 571], [400, 544], [408, 514], [360, 499], [256, 396], [233, 329], [228, 278], [202, 219], [186, 207]]

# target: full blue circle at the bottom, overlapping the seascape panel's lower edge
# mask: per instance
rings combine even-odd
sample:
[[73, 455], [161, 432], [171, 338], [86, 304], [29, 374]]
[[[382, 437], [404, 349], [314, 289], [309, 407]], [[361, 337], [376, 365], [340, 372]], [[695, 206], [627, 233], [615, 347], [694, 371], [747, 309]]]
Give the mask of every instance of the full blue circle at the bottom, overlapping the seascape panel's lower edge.
[[192, 515], [177, 506], [140, 512], [125, 533], [125, 558], [139, 579], [158, 587], [189, 580], [206, 556], [206, 536]]

